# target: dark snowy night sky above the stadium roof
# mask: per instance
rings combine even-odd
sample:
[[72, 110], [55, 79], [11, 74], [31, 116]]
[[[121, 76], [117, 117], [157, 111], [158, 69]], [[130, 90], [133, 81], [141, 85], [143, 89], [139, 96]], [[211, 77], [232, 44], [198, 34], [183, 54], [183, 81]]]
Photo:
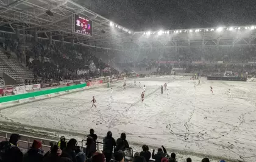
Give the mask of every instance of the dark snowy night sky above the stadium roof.
[[256, 25], [256, 0], [74, 0], [133, 31]]

